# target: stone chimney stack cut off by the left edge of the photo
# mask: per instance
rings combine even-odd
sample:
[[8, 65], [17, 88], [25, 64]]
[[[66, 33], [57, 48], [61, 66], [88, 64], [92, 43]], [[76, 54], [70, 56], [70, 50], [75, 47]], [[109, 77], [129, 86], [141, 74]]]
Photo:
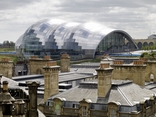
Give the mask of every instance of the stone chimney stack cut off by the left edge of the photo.
[[0, 73], [3, 76], [12, 79], [13, 76], [13, 61], [10, 61], [9, 58], [2, 58], [0, 61]]

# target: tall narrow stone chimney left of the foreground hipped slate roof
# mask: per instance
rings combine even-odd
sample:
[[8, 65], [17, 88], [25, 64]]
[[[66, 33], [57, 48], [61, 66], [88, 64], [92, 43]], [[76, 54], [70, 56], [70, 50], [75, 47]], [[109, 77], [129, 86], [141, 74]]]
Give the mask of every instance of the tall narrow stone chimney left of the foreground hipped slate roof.
[[48, 62], [46, 66], [43, 67], [44, 69], [44, 102], [55, 94], [59, 93], [59, 73], [60, 66], [57, 66], [56, 61]]

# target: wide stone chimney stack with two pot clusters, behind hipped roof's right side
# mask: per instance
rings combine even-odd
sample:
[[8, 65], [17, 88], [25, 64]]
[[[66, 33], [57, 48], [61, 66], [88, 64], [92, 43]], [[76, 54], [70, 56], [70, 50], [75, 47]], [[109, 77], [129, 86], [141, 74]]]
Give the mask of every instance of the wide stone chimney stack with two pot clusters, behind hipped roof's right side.
[[112, 65], [113, 79], [115, 80], [132, 80], [134, 83], [145, 85], [146, 65], [141, 60], [133, 61], [133, 64], [123, 64], [123, 61], [114, 61]]

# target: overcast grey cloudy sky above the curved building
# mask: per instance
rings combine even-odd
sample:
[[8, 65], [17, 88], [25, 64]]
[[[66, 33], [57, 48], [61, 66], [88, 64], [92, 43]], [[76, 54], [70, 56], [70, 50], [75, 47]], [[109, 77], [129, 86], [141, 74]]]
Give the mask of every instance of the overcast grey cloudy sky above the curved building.
[[146, 39], [156, 34], [156, 0], [0, 0], [0, 43], [43, 19], [96, 22]]

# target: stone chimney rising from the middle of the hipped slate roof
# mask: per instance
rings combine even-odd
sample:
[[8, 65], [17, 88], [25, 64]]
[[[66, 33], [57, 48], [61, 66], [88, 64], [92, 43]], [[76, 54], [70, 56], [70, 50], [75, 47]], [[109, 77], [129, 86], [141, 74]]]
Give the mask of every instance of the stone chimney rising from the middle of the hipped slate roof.
[[112, 71], [109, 63], [101, 63], [96, 69], [98, 74], [98, 97], [105, 97], [112, 86]]

